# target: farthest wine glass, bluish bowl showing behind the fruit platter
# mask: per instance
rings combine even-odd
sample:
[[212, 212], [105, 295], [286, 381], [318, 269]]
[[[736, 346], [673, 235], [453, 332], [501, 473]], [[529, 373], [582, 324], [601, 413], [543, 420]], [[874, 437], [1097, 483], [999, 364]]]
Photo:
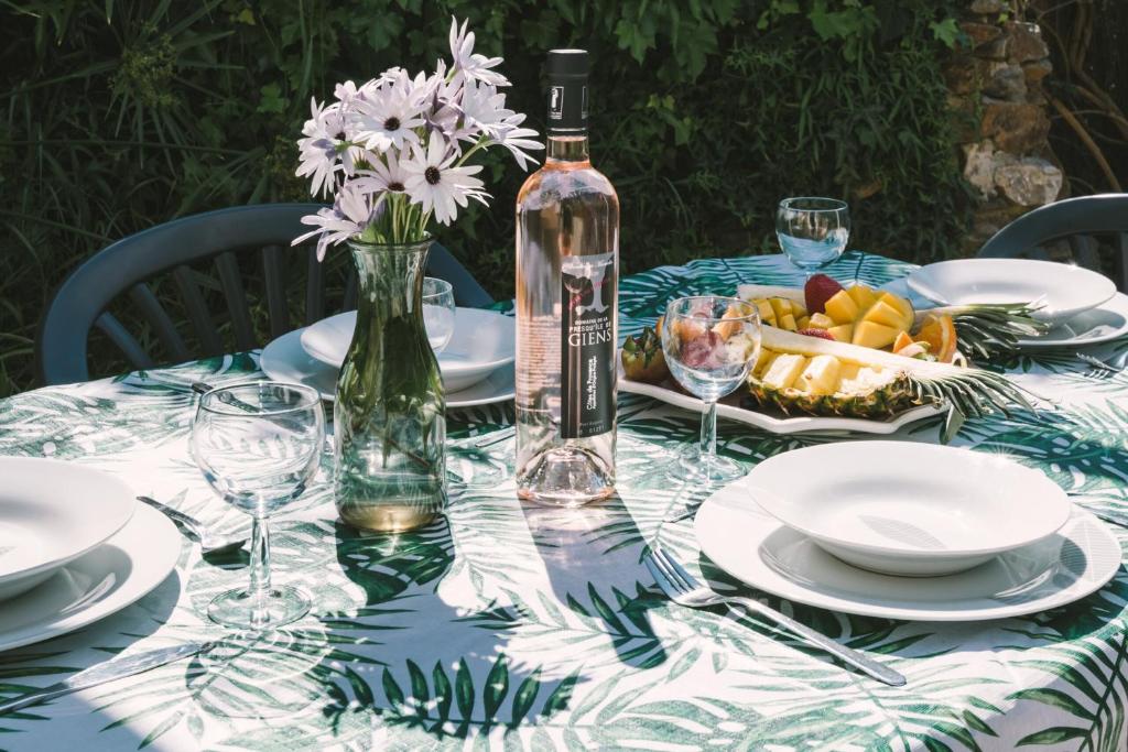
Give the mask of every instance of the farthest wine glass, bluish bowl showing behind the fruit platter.
[[836, 260], [849, 239], [849, 206], [837, 198], [784, 198], [776, 210], [776, 238], [808, 278]]

